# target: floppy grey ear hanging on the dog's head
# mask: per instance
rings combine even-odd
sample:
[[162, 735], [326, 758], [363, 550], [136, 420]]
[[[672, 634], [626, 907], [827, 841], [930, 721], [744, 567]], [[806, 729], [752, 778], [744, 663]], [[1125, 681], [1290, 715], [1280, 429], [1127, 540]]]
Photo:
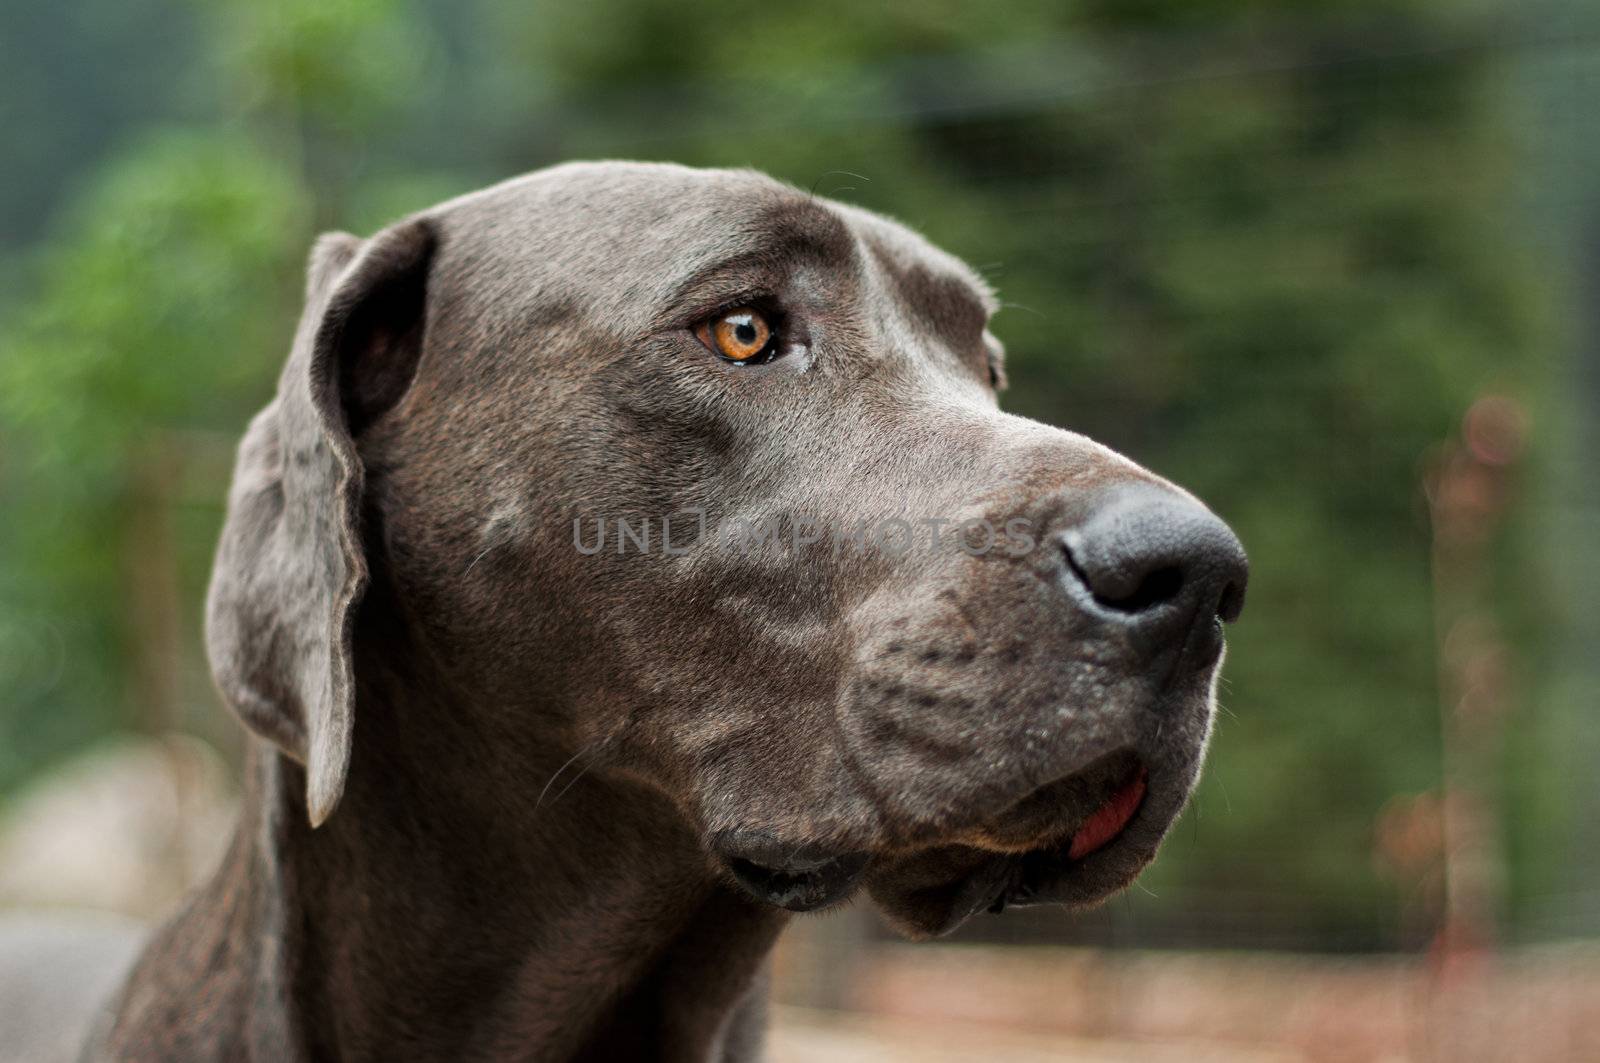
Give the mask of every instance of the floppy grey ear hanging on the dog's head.
[[306, 765], [320, 826], [350, 762], [350, 636], [366, 588], [355, 439], [422, 352], [427, 221], [320, 237], [278, 394], [238, 447], [206, 599], [206, 653], [250, 730]]

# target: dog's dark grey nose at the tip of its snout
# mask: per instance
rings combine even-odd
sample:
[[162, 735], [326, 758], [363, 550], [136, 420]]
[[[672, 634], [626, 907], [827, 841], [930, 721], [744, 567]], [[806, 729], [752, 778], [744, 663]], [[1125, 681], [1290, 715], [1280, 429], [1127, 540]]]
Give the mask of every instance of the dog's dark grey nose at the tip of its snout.
[[1154, 483], [1118, 487], [1098, 501], [1061, 533], [1061, 546], [1070, 578], [1101, 615], [1171, 640], [1198, 623], [1238, 618], [1245, 548], [1211, 511]]

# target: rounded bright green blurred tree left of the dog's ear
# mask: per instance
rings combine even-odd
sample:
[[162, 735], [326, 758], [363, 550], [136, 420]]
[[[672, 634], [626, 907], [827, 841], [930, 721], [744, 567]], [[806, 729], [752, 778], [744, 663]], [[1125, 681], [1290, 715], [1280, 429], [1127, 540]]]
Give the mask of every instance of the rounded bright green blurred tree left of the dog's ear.
[[[306, 216], [294, 176], [248, 142], [157, 134], [102, 170], [40, 256], [0, 346], [0, 786], [130, 712], [181, 709], [155, 701], [181, 693], [186, 661], [139, 623], [179, 621], [142, 607], [182, 580], [194, 645], [218, 453], [293, 312]], [[195, 448], [211, 451], [200, 498], [176, 464]], [[200, 514], [181, 540], [162, 532]]]

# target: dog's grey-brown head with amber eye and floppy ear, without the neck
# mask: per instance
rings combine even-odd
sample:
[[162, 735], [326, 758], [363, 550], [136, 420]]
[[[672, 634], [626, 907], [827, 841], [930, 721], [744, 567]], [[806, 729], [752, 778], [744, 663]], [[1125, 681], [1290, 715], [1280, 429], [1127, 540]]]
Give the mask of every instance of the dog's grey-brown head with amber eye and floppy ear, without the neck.
[[[362, 507], [403, 624], [485, 730], [646, 780], [762, 900], [864, 884], [938, 933], [1098, 900], [1152, 858], [1243, 552], [1165, 480], [998, 410], [995, 304], [962, 263], [752, 173], [619, 163], [322, 258], [211, 604], [224, 692], [307, 760], [314, 816], [349, 743]], [[251, 469], [293, 467], [296, 431], [331, 434], [307, 461], [355, 491], [320, 517], [352, 527], [312, 690], [246, 660], [290, 621], [227, 576], [294, 514], [294, 485], [262, 509]]]

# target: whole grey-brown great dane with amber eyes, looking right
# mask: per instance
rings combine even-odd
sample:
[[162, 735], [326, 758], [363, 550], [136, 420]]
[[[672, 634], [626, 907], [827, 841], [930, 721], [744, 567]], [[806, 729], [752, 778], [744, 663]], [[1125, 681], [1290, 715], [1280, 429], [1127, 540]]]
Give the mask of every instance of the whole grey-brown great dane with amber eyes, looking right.
[[790, 911], [926, 938], [1126, 885], [1245, 556], [1002, 413], [994, 311], [750, 171], [566, 165], [322, 237], [206, 607], [237, 836], [138, 949], [8, 951], [10, 1050], [747, 1060]]

